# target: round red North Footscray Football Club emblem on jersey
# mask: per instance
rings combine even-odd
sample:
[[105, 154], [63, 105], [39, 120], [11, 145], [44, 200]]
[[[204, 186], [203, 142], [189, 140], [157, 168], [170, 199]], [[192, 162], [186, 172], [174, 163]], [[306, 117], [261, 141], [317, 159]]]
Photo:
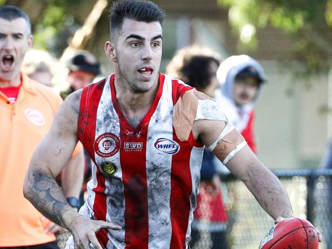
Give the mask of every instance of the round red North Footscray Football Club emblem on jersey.
[[113, 133], [104, 133], [94, 141], [94, 151], [100, 157], [114, 156], [120, 150], [121, 141]]

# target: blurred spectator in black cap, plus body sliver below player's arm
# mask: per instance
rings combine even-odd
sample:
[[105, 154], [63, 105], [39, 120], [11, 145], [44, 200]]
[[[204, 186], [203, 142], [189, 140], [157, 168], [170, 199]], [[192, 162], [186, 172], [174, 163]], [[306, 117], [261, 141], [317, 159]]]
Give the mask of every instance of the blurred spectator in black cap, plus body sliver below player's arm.
[[[87, 51], [78, 51], [67, 64], [69, 70], [67, 83], [69, 88], [60, 92], [62, 98], [66, 98], [70, 93], [89, 85], [93, 79], [100, 74], [100, 63], [97, 58]], [[86, 193], [86, 183], [91, 178], [91, 158], [84, 149], [84, 180], [80, 194], [80, 206], [84, 204], [84, 193]]]

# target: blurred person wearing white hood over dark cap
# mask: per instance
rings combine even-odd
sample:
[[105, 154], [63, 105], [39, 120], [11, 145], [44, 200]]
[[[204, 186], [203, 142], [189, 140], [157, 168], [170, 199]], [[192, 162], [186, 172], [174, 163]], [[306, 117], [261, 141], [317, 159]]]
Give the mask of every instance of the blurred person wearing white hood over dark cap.
[[256, 153], [253, 136], [254, 104], [266, 81], [262, 66], [247, 55], [231, 56], [221, 63], [217, 78], [221, 87], [216, 91], [216, 101]]

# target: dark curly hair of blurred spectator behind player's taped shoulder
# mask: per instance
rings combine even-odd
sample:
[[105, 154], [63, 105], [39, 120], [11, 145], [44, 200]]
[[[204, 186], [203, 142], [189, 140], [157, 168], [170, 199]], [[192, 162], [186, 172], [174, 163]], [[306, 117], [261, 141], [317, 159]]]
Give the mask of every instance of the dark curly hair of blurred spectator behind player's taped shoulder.
[[185, 83], [196, 87], [197, 90], [202, 91], [210, 83], [211, 79], [217, 75], [217, 72], [210, 71], [210, 65], [216, 63], [219, 67], [219, 60], [212, 56], [193, 56], [184, 62], [180, 69], [181, 75], [184, 77]]

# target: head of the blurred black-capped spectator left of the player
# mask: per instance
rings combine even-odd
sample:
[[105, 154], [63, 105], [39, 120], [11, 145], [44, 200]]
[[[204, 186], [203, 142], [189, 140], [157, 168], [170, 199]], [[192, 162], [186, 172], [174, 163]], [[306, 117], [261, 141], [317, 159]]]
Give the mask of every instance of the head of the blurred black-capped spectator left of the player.
[[79, 51], [69, 60], [67, 82], [69, 88], [60, 93], [66, 98], [70, 93], [89, 85], [100, 74], [100, 63], [94, 55], [87, 51]]

